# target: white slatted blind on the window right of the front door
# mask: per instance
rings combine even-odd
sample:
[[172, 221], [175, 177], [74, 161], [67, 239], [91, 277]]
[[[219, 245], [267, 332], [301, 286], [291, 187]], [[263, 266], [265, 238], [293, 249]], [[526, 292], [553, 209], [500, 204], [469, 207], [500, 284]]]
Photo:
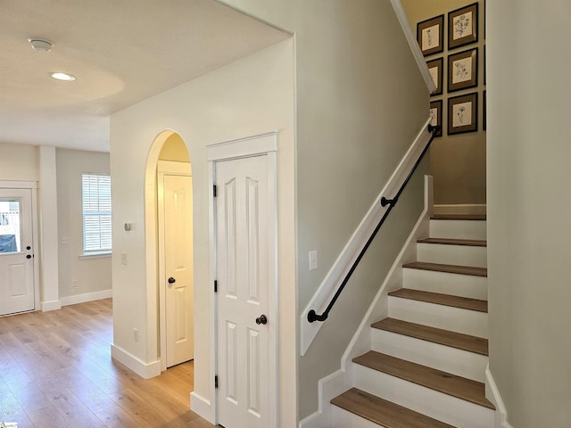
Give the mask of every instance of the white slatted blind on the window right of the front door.
[[111, 251], [111, 177], [86, 173], [81, 177], [83, 251]]

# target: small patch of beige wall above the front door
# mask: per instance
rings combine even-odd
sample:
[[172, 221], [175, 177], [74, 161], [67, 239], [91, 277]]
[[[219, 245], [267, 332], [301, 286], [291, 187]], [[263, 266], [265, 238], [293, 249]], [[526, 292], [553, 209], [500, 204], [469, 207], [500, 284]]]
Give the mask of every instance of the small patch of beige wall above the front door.
[[0, 144], [0, 180], [37, 181], [37, 146]]

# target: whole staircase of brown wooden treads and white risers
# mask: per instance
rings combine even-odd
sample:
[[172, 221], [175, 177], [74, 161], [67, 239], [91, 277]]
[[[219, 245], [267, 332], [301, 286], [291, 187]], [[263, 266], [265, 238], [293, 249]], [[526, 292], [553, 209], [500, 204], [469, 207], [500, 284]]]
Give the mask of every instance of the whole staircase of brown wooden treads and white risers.
[[484, 216], [430, 220], [418, 261], [352, 360], [354, 387], [331, 400], [338, 428], [492, 428], [484, 397], [487, 270]]

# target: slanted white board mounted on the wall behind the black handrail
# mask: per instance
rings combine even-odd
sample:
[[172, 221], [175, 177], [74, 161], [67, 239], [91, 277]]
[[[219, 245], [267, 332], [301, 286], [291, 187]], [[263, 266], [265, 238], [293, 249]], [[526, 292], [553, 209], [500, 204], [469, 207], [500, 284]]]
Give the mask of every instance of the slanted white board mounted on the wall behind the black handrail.
[[323, 323], [314, 322], [310, 323], [307, 320], [307, 314], [311, 309], [315, 309], [319, 314], [327, 308], [327, 304], [335, 292], [339, 288], [339, 285], [343, 282], [343, 278], [347, 275], [352, 267], [353, 262], [359, 256], [361, 249], [365, 246], [368, 238], [372, 235], [373, 231], [378, 225], [378, 222], [385, 214], [386, 210], [389, 209], [388, 206], [381, 206], [381, 198], [383, 196], [393, 196], [398, 192], [401, 184], [404, 182], [408, 176], [410, 170], [414, 166], [415, 162], [418, 160], [420, 154], [426, 147], [431, 134], [428, 132], [429, 121], [422, 130], [418, 133], [414, 142], [410, 145], [408, 152], [402, 158], [400, 164], [393, 172], [393, 176], [389, 178], [387, 184], [377, 196], [377, 199], [373, 202], [372, 206], [369, 208], [368, 213], [365, 215], [357, 227], [355, 232], [353, 232], [352, 237], [349, 242], [346, 243], [343, 251], [339, 254], [335, 263], [329, 269], [327, 276], [323, 282], [319, 285], [318, 291], [315, 292], [313, 298], [310, 300], [309, 304], [303, 309], [302, 316], [300, 319], [300, 353], [305, 355], [305, 352], [310, 348], [311, 342], [319, 332], [321, 325]]

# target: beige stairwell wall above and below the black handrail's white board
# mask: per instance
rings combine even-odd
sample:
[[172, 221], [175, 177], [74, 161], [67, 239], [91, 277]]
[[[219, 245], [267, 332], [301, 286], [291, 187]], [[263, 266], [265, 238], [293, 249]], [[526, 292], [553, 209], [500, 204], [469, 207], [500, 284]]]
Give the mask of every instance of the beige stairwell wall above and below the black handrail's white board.
[[[295, 34], [301, 313], [425, 123], [426, 85], [388, 1], [225, 3]], [[419, 196], [420, 187], [417, 191]], [[319, 379], [339, 369], [394, 249], [408, 235], [415, 210], [403, 210], [387, 226], [391, 231], [377, 237], [318, 338], [300, 358], [300, 418], [317, 410]], [[319, 253], [319, 268], [310, 272], [312, 250]]]

